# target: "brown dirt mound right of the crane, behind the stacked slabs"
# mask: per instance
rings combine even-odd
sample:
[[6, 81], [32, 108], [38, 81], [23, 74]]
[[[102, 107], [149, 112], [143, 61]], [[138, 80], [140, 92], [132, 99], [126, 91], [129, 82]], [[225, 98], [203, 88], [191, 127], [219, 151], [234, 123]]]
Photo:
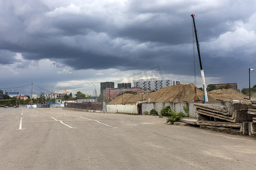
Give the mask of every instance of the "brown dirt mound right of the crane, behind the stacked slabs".
[[243, 100], [245, 98], [249, 99], [249, 96], [246, 96], [233, 88], [209, 91], [208, 96], [212, 96], [214, 99], [223, 101]]

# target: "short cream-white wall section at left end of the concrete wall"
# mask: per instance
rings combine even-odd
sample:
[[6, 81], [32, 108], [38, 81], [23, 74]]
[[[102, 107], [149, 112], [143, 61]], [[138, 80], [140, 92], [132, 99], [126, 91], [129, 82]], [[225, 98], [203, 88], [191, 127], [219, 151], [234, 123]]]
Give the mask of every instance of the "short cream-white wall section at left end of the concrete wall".
[[106, 105], [107, 113], [137, 113], [137, 105]]

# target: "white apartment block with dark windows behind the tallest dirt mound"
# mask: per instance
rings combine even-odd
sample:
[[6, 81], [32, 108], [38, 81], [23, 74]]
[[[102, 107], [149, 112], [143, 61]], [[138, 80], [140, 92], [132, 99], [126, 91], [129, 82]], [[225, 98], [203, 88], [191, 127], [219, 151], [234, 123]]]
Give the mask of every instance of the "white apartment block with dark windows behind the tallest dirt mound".
[[140, 79], [140, 80], [133, 80], [133, 87], [142, 88], [142, 91], [156, 91], [160, 88], [164, 88], [167, 86], [173, 86], [180, 84], [179, 80], [171, 79], [171, 78], [164, 78], [164, 79]]

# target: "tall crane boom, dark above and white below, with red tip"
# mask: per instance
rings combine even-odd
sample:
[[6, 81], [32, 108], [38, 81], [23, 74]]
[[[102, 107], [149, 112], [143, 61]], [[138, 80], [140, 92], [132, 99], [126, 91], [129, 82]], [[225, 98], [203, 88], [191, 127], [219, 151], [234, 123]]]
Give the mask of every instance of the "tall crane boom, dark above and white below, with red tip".
[[195, 14], [191, 15], [193, 18], [193, 24], [194, 24], [194, 31], [195, 31], [195, 36], [196, 36], [196, 47], [197, 47], [197, 53], [199, 57], [199, 63], [200, 63], [200, 70], [201, 70], [201, 77], [202, 77], [202, 82], [203, 82], [203, 89], [204, 89], [204, 102], [208, 101], [208, 96], [207, 96], [207, 90], [205, 86], [205, 78], [204, 78], [204, 69], [203, 69], [203, 64], [201, 61], [201, 53], [200, 53], [200, 48], [199, 48], [199, 40], [197, 37], [197, 30], [196, 30], [196, 23], [195, 23]]

